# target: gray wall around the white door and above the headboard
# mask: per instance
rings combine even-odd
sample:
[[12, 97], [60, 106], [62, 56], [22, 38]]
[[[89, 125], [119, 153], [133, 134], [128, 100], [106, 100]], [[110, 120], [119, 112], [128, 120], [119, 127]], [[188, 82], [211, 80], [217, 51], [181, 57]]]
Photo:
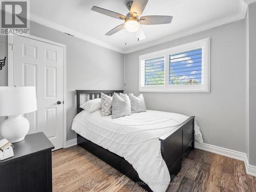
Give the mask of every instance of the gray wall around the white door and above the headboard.
[[[76, 137], [71, 123], [76, 115], [76, 89], [123, 89], [121, 53], [31, 22], [30, 34], [67, 45], [67, 140]], [[7, 36], [0, 36], [0, 58], [7, 55]], [[0, 86], [7, 86], [7, 67], [0, 71]], [[0, 119], [0, 123], [3, 118]]]

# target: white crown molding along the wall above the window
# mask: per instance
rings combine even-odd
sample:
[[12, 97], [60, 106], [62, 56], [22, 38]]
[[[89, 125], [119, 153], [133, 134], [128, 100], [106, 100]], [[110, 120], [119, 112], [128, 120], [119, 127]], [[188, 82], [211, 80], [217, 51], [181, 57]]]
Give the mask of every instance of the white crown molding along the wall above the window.
[[224, 26], [224, 25], [228, 25], [228, 24], [233, 23], [233, 22], [237, 22], [239, 20], [244, 19], [245, 16], [246, 16], [246, 13], [247, 13], [247, 4], [243, 0], [240, 0], [239, 13], [237, 13], [237, 14], [225, 17], [225, 18], [220, 19], [220, 20], [216, 20], [215, 22], [211, 22], [211, 23], [208, 23], [206, 25], [202, 25], [202, 26], [196, 27], [194, 29], [191, 29], [191, 30], [188, 30], [188, 31], [185, 31], [185, 32], [179, 32], [179, 33], [176, 33], [174, 35], [170, 35], [168, 37], [161, 38], [161, 39], [153, 41], [153, 42], [149, 42], [148, 44], [145, 44], [145, 45], [137, 46], [137, 47], [131, 48], [131, 49], [126, 49], [125, 54], [132, 53], [132, 52], [135, 52], [135, 51], [139, 51], [141, 49], [145, 49], [145, 48], [148, 48], [148, 47], [153, 47], [153, 46], [156, 46], [156, 45], [159, 45], [159, 44], [163, 44], [164, 42], [167, 42], [167, 41], [172, 41], [172, 40], [176, 40], [176, 39], [186, 37], [186, 36], [189, 36], [189, 35], [192, 35], [192, 34], [207, 31], [209, 29], [213, 29], [213, 28]]

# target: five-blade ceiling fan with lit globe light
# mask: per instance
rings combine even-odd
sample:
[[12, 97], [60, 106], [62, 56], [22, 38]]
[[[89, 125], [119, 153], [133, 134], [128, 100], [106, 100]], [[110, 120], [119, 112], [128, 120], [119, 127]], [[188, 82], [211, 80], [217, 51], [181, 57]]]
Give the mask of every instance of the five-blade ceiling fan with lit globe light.
[[143, 10], [146, 7], [148, 0], [134, 0], [126, 3], [127, 9], [130, 11], [126, 14], [126, 16], [116, 13], [114, 11], [110, 11], [108, 9], [103, 9], [100, 7], [93, 6], [92, 10], [98, 13], [108, 15], [114, 18], [118, 18], [124, 20], [124, 24], [121, 24], [114, 29], [110, 30], [105, 35], [110, 36], [115, 34], [116, 32], [126, 29], [129, 32], [137, 32], [136, 36], [138, 40], [142, 40], [145, 38], [144, 32], [141, 25], [159, 25], [159, 24], [169, 24], [172, 22], [173, 16], [167, 15], [148, 15], [148, 16], [140, 16]]

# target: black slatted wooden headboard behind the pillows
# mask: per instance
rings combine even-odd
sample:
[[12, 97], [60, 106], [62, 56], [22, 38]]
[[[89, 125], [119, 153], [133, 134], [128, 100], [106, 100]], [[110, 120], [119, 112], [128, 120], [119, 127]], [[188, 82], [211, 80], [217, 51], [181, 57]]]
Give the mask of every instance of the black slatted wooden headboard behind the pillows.
[[76, 90], [76, 114], [80, 113], [83, 109], [79, 108], [80, 95], [89, 95], [89, 100], [101, 97], [101, 93], [112, 96], [114, 93], [123, 93], [123, 90]]

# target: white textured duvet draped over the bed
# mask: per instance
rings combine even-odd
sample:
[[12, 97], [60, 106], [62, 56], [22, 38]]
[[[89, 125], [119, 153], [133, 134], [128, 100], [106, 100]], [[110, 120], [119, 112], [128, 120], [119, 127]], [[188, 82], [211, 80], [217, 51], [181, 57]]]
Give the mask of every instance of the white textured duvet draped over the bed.
[[[72, 123], [72, 130], [99, 146], [124, 157], [137, 171], [141, 180], [155, 192], [168, 187], [170, 176], [160, 151], [159, 138], [173, 133], [188, 117], [176, 113], [147, 110], [131, 116], [112, 119], [82, 111]], [[196, 124], [195, 124], [196, 125]], [[199, 127], [196, 139], [202, 141]]]

